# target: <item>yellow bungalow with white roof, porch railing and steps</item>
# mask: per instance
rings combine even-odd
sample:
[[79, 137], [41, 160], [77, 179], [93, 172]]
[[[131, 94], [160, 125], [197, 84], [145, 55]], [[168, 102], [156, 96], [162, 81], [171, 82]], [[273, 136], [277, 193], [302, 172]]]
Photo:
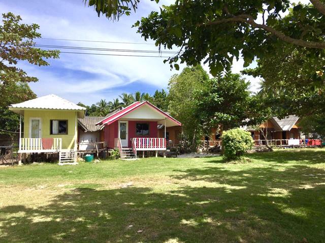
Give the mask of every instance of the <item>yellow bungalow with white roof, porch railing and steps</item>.
[[23, 134], [19, 134], [19, 165], [21, 154], [58, 153], [59, 165], [77, 164], [78, 118], [86, 108], [56, 95], [47, 95], [9, 106], [24, 116]]

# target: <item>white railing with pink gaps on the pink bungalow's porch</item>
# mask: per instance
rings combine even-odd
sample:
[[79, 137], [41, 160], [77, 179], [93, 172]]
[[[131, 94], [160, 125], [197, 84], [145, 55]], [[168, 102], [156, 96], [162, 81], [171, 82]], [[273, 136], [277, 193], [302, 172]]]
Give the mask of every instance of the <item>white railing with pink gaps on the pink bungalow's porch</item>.
[[135, 150], [166, 150], [165, 138], [133, 138], [132, 144]]

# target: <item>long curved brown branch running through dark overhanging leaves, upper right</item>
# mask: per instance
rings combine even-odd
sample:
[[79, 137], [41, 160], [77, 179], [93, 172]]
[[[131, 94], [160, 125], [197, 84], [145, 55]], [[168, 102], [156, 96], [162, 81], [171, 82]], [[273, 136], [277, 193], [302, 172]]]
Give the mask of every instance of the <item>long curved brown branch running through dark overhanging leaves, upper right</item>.
[[[318, 1], [318, 0], [316, 0]], [[206, 26], [206, 25], [218, 25], [222, 23], [229, 23], [229, 22], [242, 22], [250, 24], [254, 28], [264, 29], [268, 31], [269, 33], [275, 35], [281, 41], [284, 41], [286, 43], [294, 44], [301, 47], [307, 47], [307, 48], [315, 48], [315, 49], [325, 49], [325, 42], [308, 42], [304, 41], [303, 39], [295, 39], [290, 36], [285, 35], [281, 31], [278, 31], [270, 26], [267, 26], [265, 24], [258, 24], [254, 21], [253, 17], [251, 15], [247, 14], [241, 14], [238, 16], [233, 16], [231, 18], [221, 19], [217, 21], [211, 21], [203, 24], [198, 24], [198, 26]]]

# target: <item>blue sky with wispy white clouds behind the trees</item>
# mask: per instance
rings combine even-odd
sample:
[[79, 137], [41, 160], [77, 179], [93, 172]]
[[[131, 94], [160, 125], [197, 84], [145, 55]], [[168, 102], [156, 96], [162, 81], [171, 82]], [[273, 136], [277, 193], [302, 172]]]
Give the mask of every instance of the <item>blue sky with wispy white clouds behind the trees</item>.
[[[159, 5], [170, 5], [173, 2], [174, 0], [160, 0]], [[136, 13], [132, 13], [131, 16], [122, 16], [119, 21], [113, 22], [104, 16], [98, 17], [93, 8], [86, 7], [82, 0], [0, 0], [1, 13], [13, 12], [22, 17], [23, 23], [40, 25], [39, 32], [43, 38], [37, 39], [37, 44], [152, 51], [158, 50], [154, 42], [151, 40], [145, 42], [132, 25], [152, 10], [158, 10], [159, 5], [154, 1], [143, 0]], [[59, 41], [46, 38], [137, 44]], [[95, 51], [90, 52], [95, 53]], [[137, 55], [127, 52], [125, 54]], [[157, 54], [150, 55], [157, 56]], [[91, 105], [101, 99], [111, 101], [123, 92], [141, 91], [153, 94], [157, 89], [166, 89], [170, 77], [175, 73], [180, 73], [185, 65], [180, 65], [179, 71], [170, 70], [169, 64], [163, 63], [164, 59], [163, 57], [61, 53], [59, 59], [49, 60], [49, 66], [39, 67], [20, 63], [20, 67], [28, 75], [39, 78], [39, 82], [30, 84], [31, 89], [38, 96], [56, 94], [76, 103]], [[250, 67], [255, 65], [253, 63]], [[204, 68], [209, 71], [208, 66]], [[243, 60], [239, 59], [238, 62], [235, 60], [233, 72], [238, 73], [242, 69]], [[251, 91], [256, 92], [259, 87], [259, 78], [249, 76], [245, 78], [251, 83]]]

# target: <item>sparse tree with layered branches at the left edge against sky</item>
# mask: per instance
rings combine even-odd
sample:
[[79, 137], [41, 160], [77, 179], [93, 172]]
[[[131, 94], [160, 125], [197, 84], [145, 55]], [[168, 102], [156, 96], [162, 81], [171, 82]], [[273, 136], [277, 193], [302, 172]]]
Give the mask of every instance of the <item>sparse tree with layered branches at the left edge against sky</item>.
[[4, 90], [7, 85], [16, 82], [38, 81], [37, 77], [28, 76], [24, 70], [17, 67], [18, 61], [47, 66], [49, 63], [45, 59], [59, 57], [59, 51], [36, 48], [34, 39], [41, 37], [37, 32], [40, 26], [20, 24], [21, 20], [19, 15], [3, 14], [3, 25], [0, 26], [0, 80]]

